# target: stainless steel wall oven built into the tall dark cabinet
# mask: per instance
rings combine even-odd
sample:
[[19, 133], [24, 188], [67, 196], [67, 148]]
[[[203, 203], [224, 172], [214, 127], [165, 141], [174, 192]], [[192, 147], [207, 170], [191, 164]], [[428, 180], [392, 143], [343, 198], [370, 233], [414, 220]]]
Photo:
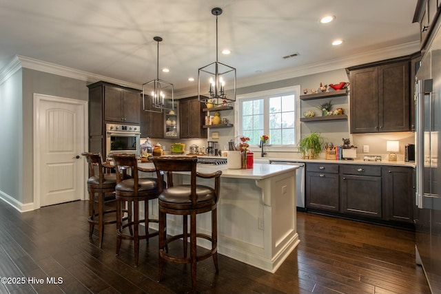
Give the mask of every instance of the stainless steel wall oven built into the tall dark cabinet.
[[105, 156], [108, 154], [136, 154], [139, 156], [139, 125], [105, 124]]

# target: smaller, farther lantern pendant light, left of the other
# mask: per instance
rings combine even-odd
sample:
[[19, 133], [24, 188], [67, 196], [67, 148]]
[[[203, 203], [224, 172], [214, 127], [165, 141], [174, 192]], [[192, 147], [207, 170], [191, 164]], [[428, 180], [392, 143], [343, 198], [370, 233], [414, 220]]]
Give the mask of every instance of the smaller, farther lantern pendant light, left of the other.
[[143, 84], [143, 110], [145, 112], [163, 112], [174, 109], [173, 84], [159, 79], [159, 42], [161, 36], [155, 36], [157, 43], [156, 79]]

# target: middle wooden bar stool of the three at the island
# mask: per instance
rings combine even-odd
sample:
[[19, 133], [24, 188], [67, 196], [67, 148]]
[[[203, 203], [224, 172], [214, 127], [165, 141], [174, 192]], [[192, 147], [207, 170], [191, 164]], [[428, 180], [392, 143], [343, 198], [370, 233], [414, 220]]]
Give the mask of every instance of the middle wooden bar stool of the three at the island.
[[[116, 170], [116, 255], [119, 255], [121, 240], [134, 242], [135, 266], [138, 266], [139, 240], [147, 240], [158, 235], [149, 232], [149, 223], [158, 220], [149, 219], [149, 200], [158, 198], [158, 180], [156, 178], [139, 178], [135, 154], [111, 154]], [[155, 169], [142, 169], [154, 172]], [[124, 179], [125, 174], [132, 178]], [[161, 180], [162, 182], [162, 180]], [[139, 218], [139, 202], [144, 202], [144, 218]], [[127, 207], [127, 209], [125, 209]], [[123, 224], [123, 213], [127, 212], [127, 223]], [[140, 234], [140, 224], [145, 224], [145, 233]], [[129, 232], [124, 229], [129, 229]]]

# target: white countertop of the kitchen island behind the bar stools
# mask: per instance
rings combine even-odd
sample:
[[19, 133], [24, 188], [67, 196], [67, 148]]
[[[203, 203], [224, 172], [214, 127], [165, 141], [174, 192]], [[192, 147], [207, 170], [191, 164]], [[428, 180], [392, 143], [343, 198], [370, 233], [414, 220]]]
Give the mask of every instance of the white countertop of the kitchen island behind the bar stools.
[[[142, 162], [139, 167], [154, 168], [152, 162]], [[254, 163], [252, 169], [228, 169], [227, 165], [201, 165], [198, 164], [197, 170], [201, 173], [213, 173], [222, 171], [222, 178], [247, 178], [252, 180], [263, 180], [278, 174], [284, 174], [287, 171], [298, 169], [297, 165], [265, 165]]]

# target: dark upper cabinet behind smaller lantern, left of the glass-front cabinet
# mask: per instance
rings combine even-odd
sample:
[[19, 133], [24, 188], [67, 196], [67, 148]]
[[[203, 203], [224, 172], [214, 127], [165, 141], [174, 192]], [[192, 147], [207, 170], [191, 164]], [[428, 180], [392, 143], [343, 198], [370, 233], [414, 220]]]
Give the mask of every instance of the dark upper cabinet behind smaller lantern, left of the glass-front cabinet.
[[145, 101], [141, 101], [141, 138], [163, 138], [164, 137], [164, 114], [163, 112], [146, 112], [148, 105], [152, 104], [152, 96], [147, 95]]

